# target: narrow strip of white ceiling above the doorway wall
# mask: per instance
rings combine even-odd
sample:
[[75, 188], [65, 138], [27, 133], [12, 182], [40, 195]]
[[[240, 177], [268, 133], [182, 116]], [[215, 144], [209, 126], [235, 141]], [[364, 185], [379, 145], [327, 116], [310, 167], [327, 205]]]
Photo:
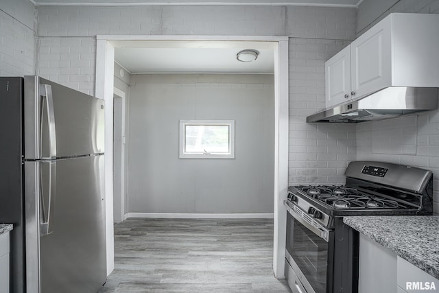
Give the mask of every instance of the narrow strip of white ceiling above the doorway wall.
[[363, 0], [29, 0], [37, 5], [318, 5], [357, 7]]

